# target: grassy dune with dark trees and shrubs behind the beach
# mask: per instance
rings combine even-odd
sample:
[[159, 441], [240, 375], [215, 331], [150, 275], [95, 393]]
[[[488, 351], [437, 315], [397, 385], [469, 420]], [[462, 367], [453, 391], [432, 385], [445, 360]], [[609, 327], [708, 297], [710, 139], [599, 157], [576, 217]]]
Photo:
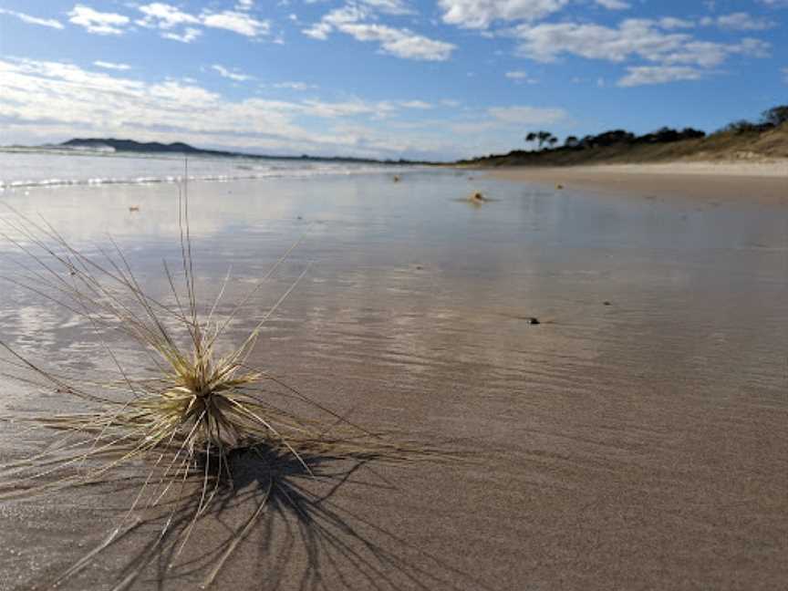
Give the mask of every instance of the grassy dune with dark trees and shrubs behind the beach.
[[768, 109], [760, 119], [731, 122], [713, 133], [663, 127], [636, 135], [606, 130], [577, 138], [567, 136], [560, 146], [553, 133], [528, 131], [532, 150], [512, 150], [458, 162], [476, 166], [570, 166], [622, 162], [679, 160], [758, 160], [788, 158], [788, 105]]

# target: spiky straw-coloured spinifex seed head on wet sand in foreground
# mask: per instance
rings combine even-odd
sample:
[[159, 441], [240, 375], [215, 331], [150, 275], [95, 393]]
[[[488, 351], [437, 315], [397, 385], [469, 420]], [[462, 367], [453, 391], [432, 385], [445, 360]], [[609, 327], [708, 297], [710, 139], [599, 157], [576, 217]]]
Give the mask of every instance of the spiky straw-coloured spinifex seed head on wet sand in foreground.
[[[44, 220], [36, 221], [15, 211], [0, 219], [5, 226], [0, 235], [22, 254], [21, 259], [11, 259], [20, 274], [6, 279], [87, 319], [113, 367], [97, 378], [76, 376], [66, 370], [44, 368], [0, 341], [11, 367], [3, 374], [6, 378], [54, 390], [84, 407], [72, 414], [16, 418], [16, 422], [63, 434], [50, 451], [0, 467], [0, 499], [112, 482], [129, 468], [142, 471], [139, 492], [121, 523], [64, 577], [74, 575], [129, 531], [135, 523], [136, 509], [159, 505], [174, 493], [173, 487], [180, 489], [181, 493], [175, 495], [182, 497], [196, 479], [199, 501], [189, 505], [193, 507], [190, 523], [174, 540], [182, 549], [213, 498], [227, 484], [232, 485], [230, 457], [235, 451], [259, 451], [260, 461], [289, 455], [306, 474], [313, 473], [316, 459], [412, 461], [439, 457], [419, 446], [394, 443], [363, 430], [268, 372], [248, 365], [264, 322], [296, 287], [308, 266], [250, 327], [237, 347], [224, 347], [223, 354], [218, 352], [227, 328], [238, 320], [243, 307], [298, 243], [223, 318], [217, 317], [217, 309], [229, 274], [213, 305], [201, 313], [195, 292], [188, 200], [180, 195], [181, 191], [182, 287], [176, 288], [176, 275], [165, 263], [169, 303], [146, 293], [114, 242], [110, 241], [111, 250], [99, 248], [98, 255], [88, 256]], [[124, 347], [136, 347], [147, 356], [155, 371], [124, 361], [118, 348], [108, 342], [117, 334], [126, 337]], [[272, 476], [255, 516], [264, 511], [277, 486], [281, 483]], [[171, 540], [173, 516], [180, 511], [178, 507], [171, 510], [154, 546]], [[254, 518], [228, 542], [206, 584], [253, 524]], [[120, 586], [129, 585], [138, 574], [139, 569], [132, 571]]]

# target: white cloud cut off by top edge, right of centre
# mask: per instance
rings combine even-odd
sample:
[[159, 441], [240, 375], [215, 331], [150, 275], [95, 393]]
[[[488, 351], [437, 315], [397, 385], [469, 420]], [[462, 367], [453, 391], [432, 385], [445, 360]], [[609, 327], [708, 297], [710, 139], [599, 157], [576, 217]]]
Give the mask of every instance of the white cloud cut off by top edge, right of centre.
[[497, 20], [534, 21], [552, 15], [569, 0], [439, 0], [443, 22], [466, 28], [487, 28]]

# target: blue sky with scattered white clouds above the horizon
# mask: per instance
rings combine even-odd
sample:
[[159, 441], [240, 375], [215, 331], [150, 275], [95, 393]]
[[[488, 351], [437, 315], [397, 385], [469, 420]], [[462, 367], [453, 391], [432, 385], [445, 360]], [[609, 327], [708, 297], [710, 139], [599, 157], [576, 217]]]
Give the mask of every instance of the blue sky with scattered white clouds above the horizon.
[[451, 160], [788, 103], [788, 0], [0, 0], [0, 145]]

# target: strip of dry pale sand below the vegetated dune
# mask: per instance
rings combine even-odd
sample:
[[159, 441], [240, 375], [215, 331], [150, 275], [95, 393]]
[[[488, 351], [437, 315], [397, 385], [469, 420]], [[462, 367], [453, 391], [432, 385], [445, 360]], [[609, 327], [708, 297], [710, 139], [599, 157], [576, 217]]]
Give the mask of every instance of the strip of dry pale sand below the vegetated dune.
[[599, 164], [482, 170], [499, 181], [561, 184], [569, 190], [788, 205], [788, 161]]

